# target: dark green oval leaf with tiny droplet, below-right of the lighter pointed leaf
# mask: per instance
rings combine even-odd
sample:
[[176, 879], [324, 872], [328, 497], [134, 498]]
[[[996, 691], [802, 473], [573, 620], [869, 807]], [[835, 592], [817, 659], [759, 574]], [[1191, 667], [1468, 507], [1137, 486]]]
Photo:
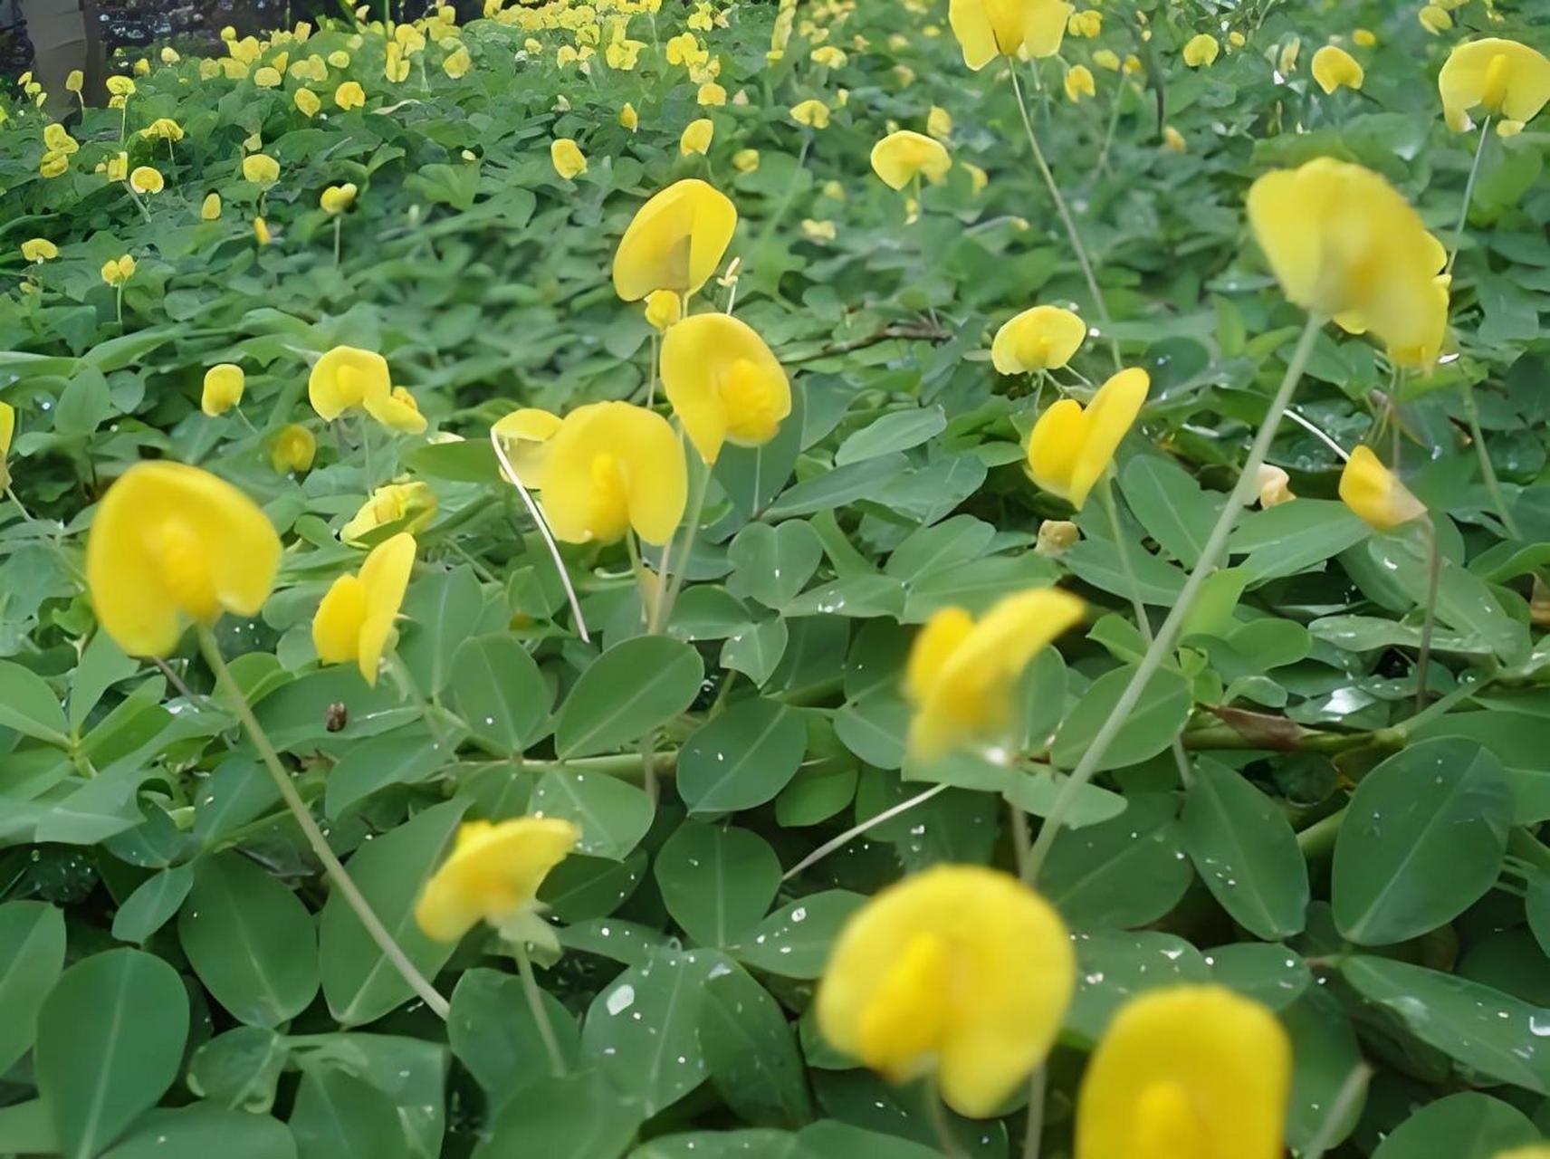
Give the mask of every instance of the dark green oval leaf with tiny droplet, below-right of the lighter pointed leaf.
[[801, 765], [808, 728], [778, 700], [753, 697], [707, 721], [679, 751], [677, 789], [691, 813], [773, 801]]

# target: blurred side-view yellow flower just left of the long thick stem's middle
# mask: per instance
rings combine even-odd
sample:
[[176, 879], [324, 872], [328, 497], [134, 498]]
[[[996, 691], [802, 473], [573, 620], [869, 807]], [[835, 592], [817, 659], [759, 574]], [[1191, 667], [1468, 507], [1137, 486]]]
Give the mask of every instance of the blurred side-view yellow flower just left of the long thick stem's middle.
[[1080, 618], [1082, 601], [1057, 587], [1004, 597], [978, 623], [961, 607], [932, 615], [905, 668], [914, 710], [910, 753], [930, 761], [970, 742], [1000, 741], [1023, 669]]

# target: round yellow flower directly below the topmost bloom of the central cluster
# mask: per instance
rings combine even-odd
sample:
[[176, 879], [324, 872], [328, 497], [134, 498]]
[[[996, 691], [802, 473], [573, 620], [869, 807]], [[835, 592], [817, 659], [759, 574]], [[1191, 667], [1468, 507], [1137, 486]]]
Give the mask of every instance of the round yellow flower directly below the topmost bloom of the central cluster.
[[790, 414], [790, 383], [764, 339], [732, 315], [694, 315], [662, 339], [662, 389], [707, 463], [761, 446]]

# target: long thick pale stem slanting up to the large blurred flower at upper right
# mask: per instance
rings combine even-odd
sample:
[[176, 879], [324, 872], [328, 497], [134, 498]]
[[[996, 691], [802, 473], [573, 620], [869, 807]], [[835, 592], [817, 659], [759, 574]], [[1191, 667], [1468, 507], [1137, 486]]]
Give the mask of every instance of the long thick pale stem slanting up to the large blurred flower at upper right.
[[1082, 753], [1082, 759], [1077, 761], [1076, 769], [1071, 770], [1071, 776], [1066, 778], [1063, 786], [1060, 786], [1060, 793], [1056, 796], [1056, 803], [1051, 807], [1049, 815], [1038, 829], [1038, 838], [1034, 841], [1032, 852], [1028, 857], [1028, 874], [1025, 880], [1037, 880], [1038, 871], [1045, 863], [1045, 857], [1049, 854], [1049, 846], [1054, 844], [1056, 835], [1060, 832], [1060, 826], [1065, 821], [1066, 813], [1071, 810], [1071, 804], [1076, 801], [1077, 793], [1080, 793], [1087, 782], [1093, 779], [1093, 773], [1097, 772], [1099, 762], [1102, 762], [1104, 756], [1108, 753], [1108, 747], [1113, 744], [1114, 736], [1118, 736], [1125, 717], [1130, 716], [1132, 710], [1135, 710], [1142, 693], [1145, 693], [1147, 685], [1152, 682], [1152, 677], [1156, 674], [1158, 668], [1162, 666], [1162, 660], [1173, 649], [1173, 643], [1178, 640], [1178, 635], [1184, 628], [1184, 620], [1189, 615], [1190, 607], [1195, 604], [1195, 598], [1200, 595], [1200, 589], [1204, 586], [1206, 576], [1211, 575], [1211, 572], [1221, 561], [1221, 556], [1226, 553], [1228, 536], [1232, 535], [1232, 527], [1243, 513], [1245, 504], [1248, 504], [1249, 497], [1254, 494], [1260, 463], [1265, 462], [1265, 454], [1269, 451], [1269, 445], [1276, 438], [1276, 428], [1280, 426], [1280, 417], [1291, 403], [1291, 397], [1297, 389], [1297, 381], [1302, 378], [1302, 369], [1307, 366], [1308, 355], [1313, 352], [1313, 341], [1319, 335], [1319, 324], [1321, 319], [1316, 315], [1308, 316], [1308, 322], [1302, 328], [1302, 338], [1297, 339], [1297, 347], [1291, 355], [1291, 361], [1286, 364], [1286, 373], [1280, 381], [1280, 387], [1276, 390], [1276, 397], [1271, 400], [1269, 409], [1265, 412], [1265, 421], [1260, 423], [1260, 429], [1254, 435], [1254, 445], [1249, 448], [1249, 456], [1243, 462], [1238, 482], [1228, 496], [1228, 502], [1223, 505], [1215, 527], [1211, 528], [1211, 535], [1206, 539], [1204, 549], [1201, 549], [1200, 561], [1195, 564], [1195, 570], [1189, 573], [1189, 580], [1184, 583], [1184, 590], [1180, 592], [1178, 601], [1172, 609], [1169, 609], [1167, 618], [1158, 629], [1156, 637], [1152, 640], [1152, 646], [1145, 651], [1145, 655], [1141, 657], [1141, 663], [1130, 677], [1130, 683], [1125, 685], [1125, 691], [1121, 693], [1119, 700], [1108, 714], [1108, 719], [1104, 721], [1104, 727], [1097, 730], [1097, 736], [1093, 738], [1087, 751]]

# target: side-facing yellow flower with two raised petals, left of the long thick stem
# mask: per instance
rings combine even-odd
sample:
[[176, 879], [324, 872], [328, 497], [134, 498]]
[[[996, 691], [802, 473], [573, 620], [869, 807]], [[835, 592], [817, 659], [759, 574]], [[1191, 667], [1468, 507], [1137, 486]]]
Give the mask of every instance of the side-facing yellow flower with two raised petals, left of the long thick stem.
[[1141, 414], [1150, 384], [1145, 370], [1130, 367], [1104, 383], [1087, 409], [1074, 398], [1052, 403], [1028, 435], [1029, 477], [1080, 511]]

